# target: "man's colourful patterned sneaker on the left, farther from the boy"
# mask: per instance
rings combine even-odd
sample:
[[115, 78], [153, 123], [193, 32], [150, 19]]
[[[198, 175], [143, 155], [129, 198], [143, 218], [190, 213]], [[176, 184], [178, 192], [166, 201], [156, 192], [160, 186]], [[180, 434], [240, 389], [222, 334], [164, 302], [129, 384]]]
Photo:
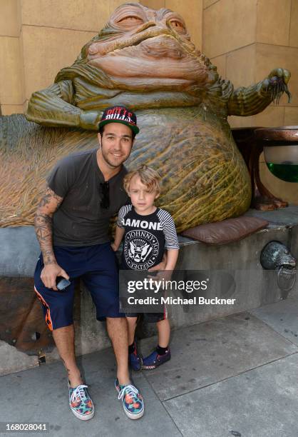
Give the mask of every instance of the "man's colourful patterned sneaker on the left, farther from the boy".
[[94, 416], [94, 405], [87, 387], [88, 386], [81, 384], [81, 386], [71, 388], [68, 383], [69, 406], [71, 407], [73, 414], [81, 419], [81, 421], [88, 421]]

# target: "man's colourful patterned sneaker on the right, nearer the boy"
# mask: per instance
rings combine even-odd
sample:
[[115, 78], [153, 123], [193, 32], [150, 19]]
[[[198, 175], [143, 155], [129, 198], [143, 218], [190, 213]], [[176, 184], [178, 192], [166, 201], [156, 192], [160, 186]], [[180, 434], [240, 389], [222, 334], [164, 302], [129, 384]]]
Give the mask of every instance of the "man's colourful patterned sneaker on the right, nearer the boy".
[[144, 414], [144, 401], [138, 388], [133, 384], [122, 386], [118, 378], [115, 380], [115, 388], [118, 391], [118, 399], [122, 401], [125, 414], [132, 419], [141, 418]]

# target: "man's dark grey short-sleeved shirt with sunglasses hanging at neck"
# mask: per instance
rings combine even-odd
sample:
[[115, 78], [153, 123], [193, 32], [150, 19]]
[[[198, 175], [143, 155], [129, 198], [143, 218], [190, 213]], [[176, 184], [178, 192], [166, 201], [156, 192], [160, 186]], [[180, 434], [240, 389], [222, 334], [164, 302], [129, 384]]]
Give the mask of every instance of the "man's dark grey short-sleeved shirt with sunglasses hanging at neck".
[[48, 176], [48, 186], [63, 202], [53, 214], [54, 246], [93, 246], [110, 241], [110, 218], [128, 201], [123, 189], [125, 167], [109, 183], [109, 209], [101, 208], [103, 174], [98, 168], [96, 151], [67, 156]]

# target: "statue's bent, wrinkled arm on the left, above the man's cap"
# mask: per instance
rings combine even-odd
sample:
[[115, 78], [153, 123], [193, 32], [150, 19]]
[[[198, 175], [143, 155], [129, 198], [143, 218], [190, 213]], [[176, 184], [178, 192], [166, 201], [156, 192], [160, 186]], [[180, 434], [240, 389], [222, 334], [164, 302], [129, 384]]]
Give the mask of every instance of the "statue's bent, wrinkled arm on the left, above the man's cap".
[[69, 126], [97, 129], [98, 113], [74, 105], [71, 81], [60, 81], [32, 94], [26, 119], [43, 126]]

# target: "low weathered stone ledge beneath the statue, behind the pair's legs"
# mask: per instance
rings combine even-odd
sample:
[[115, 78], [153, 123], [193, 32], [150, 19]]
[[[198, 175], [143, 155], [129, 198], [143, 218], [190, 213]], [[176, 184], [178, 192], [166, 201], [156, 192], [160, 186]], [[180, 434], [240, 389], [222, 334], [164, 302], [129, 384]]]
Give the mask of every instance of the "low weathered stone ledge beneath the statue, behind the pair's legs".
[[[267, 215], [268, 219], [270, 214], [272, 213]], [[289, 216], [292, 214], [297, 217], [297, 207], [292, 207]], [[235, 298], [235, 303], [217, 306], [186, 306], [185, 308], [169, 306], [172, 328], [190, 326], [194, 323], [249, 311], [252, 308], [279, 301], [283, 293], [277, 286], [277, 272], [263, 270], [260, 266], [260, 253], [269, 241], [278, 240], [288, 246], [293, 256], [297, 257], [297, 218], [292, 221], [289, 216], [287, 216], [287, 210], [284, 210], [282, 214], [279, 214], [279, 220], [283, 224], [274, 224], [273, 221], [276, 218], [272, 218], [272, 223], [268, 228], [253, 233], [240, 241], [222, 246], [205, 245], [199, 241], [179, 237], [180, 254], [176, 268], [185, 271], [184, 280], [197, 280], [196, 272], [205, 271], [205, 274], [210, 275], [210, 287], [205, 293], [202, 293], [202, 296], [205, 298], [215, 298], [215, 296]], [[289, 225], [289, 223], [293, 224]], [[39, 253], [33, 226], [19, 226], [14, 229], [0, 228], [0, 240], [0, 278], [2, 284], [4, 281], [7, 283], [8, 280], [14, 281], [14, 283], [19, 281], [20, 285], [26, 279], [29, 281], [33, 276]], [[14, 263], [11, 263], [11, 259], [14, 260]], [[31, 293], [31, 298], [34, 299], [33, 288]], [[3, 320], [0, 318], [2, 322], [0, 323], [1, 339], [5, 340], [0, 340], [0, 376], [38, 366], [36, 356], [38, 351], [41, 355], [45, 354], [46, 363], [56, 361], [58, 351], [53, 346], [53, 341], [46, 341], [46, 336], [51, 337], [51, 333], [46, 328], [37, 299], [38, 311], [34, 313], [33, 317], [32, 307], [28, 308], [24, 303], [20, 307], [21, 301], [14, 298], [4, 299], [7, 295], [3, 292], [0, 296], [0, 309], [3, 313], [9, 314], [11, 308], [14, 308], [14, 314], [21, 313], [23, 316], [23, 318], [16, 318], [17, 322], [14, 326], [8, 326], [6, 330]], [[289, 296], [298, 296], [298, 281]], [[29, 299], [26, 303], [28, 302]], [[16, 326], [19, 328], [20, 321], [23, 321], [21, 329], [16, 330]], [[83, 286], [76, 290], [74, 323], [77, 355], [100, 351], [110, 346], [105, 325], [96, 321], [96, 311], [90, 293]], [[36, 331], [39, 336], [36, 336]], [[16, 333], [16, 338], [12, 342], [9, 341], [11, 333]], [[140, 338], [152, 336], [155, 333], [155, 323], [146, 323], [142, 328], [139, 326], [138, 336]], [[31, 356], [28, 355], [29, 353]]]

